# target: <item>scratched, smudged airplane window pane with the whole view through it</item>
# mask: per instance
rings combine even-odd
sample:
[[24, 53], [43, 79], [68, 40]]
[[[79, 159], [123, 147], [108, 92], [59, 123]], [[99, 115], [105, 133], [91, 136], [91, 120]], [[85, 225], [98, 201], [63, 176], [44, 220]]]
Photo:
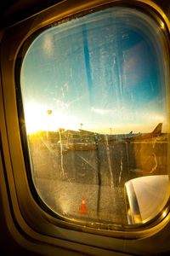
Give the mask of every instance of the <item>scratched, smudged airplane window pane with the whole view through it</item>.
[[31, 177], [56, 216], [108, 229], [163, 211], [164, 29], [116, 7], [51, 26], [27, 49], [20, 87]]

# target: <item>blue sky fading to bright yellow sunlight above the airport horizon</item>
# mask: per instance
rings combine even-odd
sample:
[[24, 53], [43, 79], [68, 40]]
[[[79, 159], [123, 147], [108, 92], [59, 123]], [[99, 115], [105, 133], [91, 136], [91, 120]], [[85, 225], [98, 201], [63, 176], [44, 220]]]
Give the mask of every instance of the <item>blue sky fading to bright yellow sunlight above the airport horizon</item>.
[[127, 8], [42, 32], [20, 73], [27, 131], [148, 132], [160, 122], [166, 131], [161, 42], [161, 28]]

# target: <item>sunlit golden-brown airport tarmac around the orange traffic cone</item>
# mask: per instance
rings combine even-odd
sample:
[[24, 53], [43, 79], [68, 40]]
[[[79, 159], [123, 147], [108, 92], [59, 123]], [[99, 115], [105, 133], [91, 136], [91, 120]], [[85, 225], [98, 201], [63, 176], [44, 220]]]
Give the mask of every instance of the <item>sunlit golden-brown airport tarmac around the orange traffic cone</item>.
[[[42, 201], [61, 218], [127, 224], [124, 183], [167, 174], [167, 143], [101, 143], [95, 150], [64, 154], [44, 143], [30, 143], [33, 183]], [[82, 196], [87, 214], [79, 212]]]

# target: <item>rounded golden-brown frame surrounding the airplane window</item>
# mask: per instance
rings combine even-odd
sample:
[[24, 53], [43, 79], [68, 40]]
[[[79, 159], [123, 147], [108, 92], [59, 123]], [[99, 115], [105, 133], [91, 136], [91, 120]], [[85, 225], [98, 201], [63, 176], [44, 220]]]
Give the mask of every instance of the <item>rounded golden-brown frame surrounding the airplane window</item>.
[[[94, 230], [92, 227], [65, 223], [61, 219], [54, 218], [54, 216], [43, 211], [38, 206], [30, 191], [26, 172], [26, 165], [29, 165], [29, 163], [26, 163], [26, 157], [23, 153], [23, 144], [26, 141], [23, 142], [23, 137], [20, 135], [20, 124], [18, 121], [20, 117], [18, 108], [20, 107], [19, 103], [17, 106], [16, 101], [16, 90], [19, 83], [16, 79], [16, 68], [20, 66], [20, 61], [17, 62], [20, 56], [20, 49], [32, 34], [37, 35], [44, 28], [47, 29], [48, 26], [56, 26], [61, 20], [72, 19], [76, 14], [88, 14], [91, 12], [91, 9], [95, 11], [102, 8], [103, 5], [102, 0], [92, 0], [89, 3], [83, 0], [80, 0], [79, 3], [72, 0], [63, 1], [54, 7], [42, 11], [40, 14], [9, 27], [3, 33], [1, 49], [2, 91], [0, 91], [0, 99], [3, 102], [1, 109], [3, 111], [0, 112], [0, 117], [2, 118], [0, 129], [6, 166], [6, 170], [4, 170], [6, 175], [5, 183], [8, 183], [8, 197], [11, 201], [10, 211], [14, 212], [15, 223], [20, 226], [20, 230], [26, 236], [33, 239], [35, 243], [37, 241], [48, 243], [46, 247], [47, 253], [48, 247], [54, 251], [56, 246], [66, 247], [71, 250], [75, 250], [76, 246], [77, 251], [84, 253], [94, 252], [94, 254], [98, 255], [103, 250], [107, 250], [108, 255], [110, 252], [108, 250], [121, 251], [122, 253], [136, 253], [140, 250], [141, 253], [144, 253], [146, 248], [141, 248], [143, 241], [146, 244], [150, 244], [150, 242], [153, 244], [154, 235], [159, 231], [159, 236], [161, 236], [161, 230], [167, 229], [167, 226], [170, 226], [169, 201], [164, 210], [167, 211], [165, 218], [162, 216], [162, 212], [160, 212], [159, 216], [153, 218], [150, 223], [143, 224], [140, 228], [137, 224], [132, 227], [128, 226], [128, 228], [116, 225], [115, 230]], [[144, 11], [145, 14], [150, 15], [158, 24], [161, 24], [163, 20], [166, 25], [163, 31], [165, 38], [167, 38], [167, 49], [165, 50], [167, 51], [167, 56], [169, 56], [170, 23], [167, 16], [156, 3], [142, 0], [134, 0], [130, 1], [130, 3], [127, 3], [127, 1], [106, 0], [105, 5], [127, 6], [139, 9]], [[169, 77], [169, 71], [167, 76]], [[167, 98], [169, 98], [169, 91], [167, 91]], [[169, 100], [167, 102], [169, 105]], [[140, 240], [141, 238], [143, 238], [142, 241]], [[128, 245], [124, 247], [123, 245], [126, 240], [128, 240]], [[22, 242], [25, 244], [24, 241]], [[159, 250], [161, 250], [161, 246], [158, 248]]]

